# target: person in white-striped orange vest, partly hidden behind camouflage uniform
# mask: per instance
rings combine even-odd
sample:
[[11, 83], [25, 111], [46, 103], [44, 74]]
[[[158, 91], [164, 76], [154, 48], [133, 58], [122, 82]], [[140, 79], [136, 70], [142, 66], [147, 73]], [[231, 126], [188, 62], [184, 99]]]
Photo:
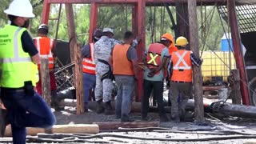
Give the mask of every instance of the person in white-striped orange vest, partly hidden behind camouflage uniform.
[[95, 89], [96, 75], [95, 75], [95, 62], [94, 62], [94, 43], [102, 37], [102, 30], [97, 29], [94, 31], [93, 42], [82, 46], [82, 72], [83, 72], [83, 94], [84, 94], [84, 109], [88, 111], [88, 100], [90, 90]]

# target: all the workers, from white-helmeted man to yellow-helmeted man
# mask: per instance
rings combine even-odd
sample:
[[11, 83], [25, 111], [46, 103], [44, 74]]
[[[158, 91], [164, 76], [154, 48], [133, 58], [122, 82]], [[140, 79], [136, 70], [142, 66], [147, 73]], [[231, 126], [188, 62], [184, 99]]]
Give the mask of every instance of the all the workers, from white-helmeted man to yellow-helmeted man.
[[[22, 7], [23, 9], [20, 9]], [[0, 29], [0, 86], [1, 101], [6, 110], [0, 109], [0, 136], [6, 125], [11, 124], [14, 143], [26, 143], [26, 127], [49, 128], [56, 122], [54, 114], [42, 99], [40, 58], [49, 60], [52, 102], [57, 99], [54, 78], [54, 40], [47, 38], [48, 26], [38, 28], [38, 37], [32, 39], [26, 30], [29, 19], [34, 18], [29, 0], [14, 0], [4, 10], [10, 24]], [[115, 114], [122, 122], [133, 122], [130, 107], [138, 80], [138, 56], [136, 46], [142, 36], [135, 38], [126, 31], [123, 41], [114, 39], [114, 30], [95, 30], [94, 42], [82, 47], [82, 71], [85, 96], [85, 110], [88, 110], [90, 89], [94, 89], [97, 113]], [[149, 120], [149, 98], [153, 90], [157, 98], [158, 111], [162, 122], [169, 121], [163, 104], [163, 82], [170, 79], [171, 119], [179, 122], [185, 113], [185, 106], [191, 95], [192, 65], [200, 66], [202, 59], [186, 50], [186, 38], [176, 39], [163, 34], [160, 42], [150, 44], [146, 49], [143, 63], [142, 120]], [[178, 49], [177, 49], [178, 48]], [[168, 67], [167, 67], [168, 66]], [[166, 70], [169, 71], [166, 74]], [[115, 111], [112, 109], [113, 81], [118, 86]], [[36, 86], [37, 90], [34, 90]]]

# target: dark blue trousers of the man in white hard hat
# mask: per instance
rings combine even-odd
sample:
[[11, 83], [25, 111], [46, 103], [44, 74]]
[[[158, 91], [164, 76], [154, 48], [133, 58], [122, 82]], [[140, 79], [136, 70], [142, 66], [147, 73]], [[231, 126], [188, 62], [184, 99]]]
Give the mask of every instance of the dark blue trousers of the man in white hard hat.
[[1, 99], [8, 110], [14, 144], [26, 143], [26, 127], [50, 128], [56, 123], [50, 107], [38, 93], [28, 95], [22, 89], [2, 88]]

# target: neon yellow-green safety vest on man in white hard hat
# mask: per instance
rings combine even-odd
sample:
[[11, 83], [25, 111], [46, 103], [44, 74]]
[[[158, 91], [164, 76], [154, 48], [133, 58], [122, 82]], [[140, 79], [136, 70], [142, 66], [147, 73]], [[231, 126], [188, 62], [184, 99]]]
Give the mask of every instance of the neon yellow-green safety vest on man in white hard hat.
[[6, 88], [22, 88], [24, 82], [38, 82], [38, 69], [30, 55], [22, 48], [25, 28], [6, 25], [0, 29], [0, 85]]

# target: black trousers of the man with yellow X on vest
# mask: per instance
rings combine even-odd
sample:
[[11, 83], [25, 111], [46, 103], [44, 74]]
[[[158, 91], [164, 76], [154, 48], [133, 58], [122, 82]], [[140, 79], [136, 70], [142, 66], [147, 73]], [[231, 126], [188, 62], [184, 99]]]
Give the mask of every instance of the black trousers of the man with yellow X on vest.
[[160, 116], [166, 114], [163, 104], [163, 82], [143, 80], [143, 96], [142, 96], [142, 118], [146, 118], [149, 111], [149, 98], [153, 90], [154, 98], [158, 101], [158, 113]]

